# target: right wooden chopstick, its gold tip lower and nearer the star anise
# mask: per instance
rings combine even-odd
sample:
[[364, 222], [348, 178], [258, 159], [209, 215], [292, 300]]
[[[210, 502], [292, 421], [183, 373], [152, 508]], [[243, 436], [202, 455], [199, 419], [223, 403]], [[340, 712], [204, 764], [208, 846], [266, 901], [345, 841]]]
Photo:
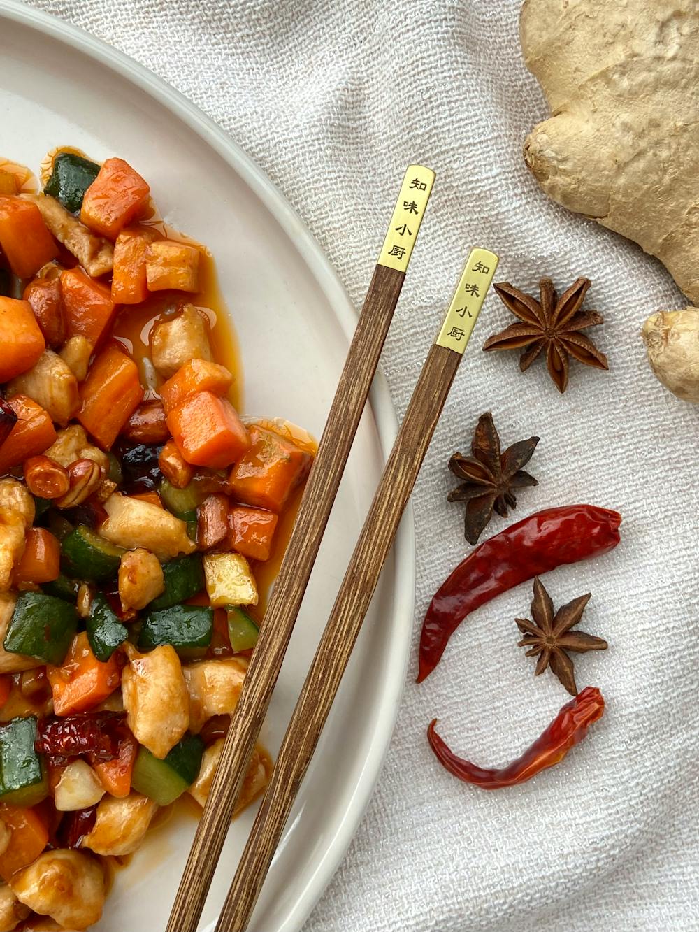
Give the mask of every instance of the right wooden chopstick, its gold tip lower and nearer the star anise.
[[248, 926], [497, 265], [495, 254], [472, 251], [444, 325], [428, 352], [284, 735], [216, 932], [243, 932]]

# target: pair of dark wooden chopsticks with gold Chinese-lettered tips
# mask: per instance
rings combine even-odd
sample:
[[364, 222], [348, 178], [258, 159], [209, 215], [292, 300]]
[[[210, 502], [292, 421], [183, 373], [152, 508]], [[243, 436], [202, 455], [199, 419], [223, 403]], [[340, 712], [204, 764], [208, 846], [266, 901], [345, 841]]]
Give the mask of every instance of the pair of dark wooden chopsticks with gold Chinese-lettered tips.
[[[433, 180], [434, 173], [422, 166], [411, 165], [405, 172], [167, 932], [196, 932], [230, 817], [398, 302]], [[243, 932], [247, 928], [497, 263], [497, 256], [487, 250], [473, 250], [469, 255], [442, 329], [420, 373], [284, 736], [269, 786], [216, 925], [217, 932]]]

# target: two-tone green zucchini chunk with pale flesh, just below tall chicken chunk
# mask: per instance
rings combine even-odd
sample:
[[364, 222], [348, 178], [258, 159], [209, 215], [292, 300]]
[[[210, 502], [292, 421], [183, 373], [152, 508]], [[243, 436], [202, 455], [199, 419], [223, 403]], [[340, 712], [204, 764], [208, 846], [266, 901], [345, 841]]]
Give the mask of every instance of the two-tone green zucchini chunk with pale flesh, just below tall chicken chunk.
[[197, 779], [203, 753], [199, 734], [185, 734], [163, 761], [146, 747], [139, 747], [131, 787], [159, 806], [170, 805]]

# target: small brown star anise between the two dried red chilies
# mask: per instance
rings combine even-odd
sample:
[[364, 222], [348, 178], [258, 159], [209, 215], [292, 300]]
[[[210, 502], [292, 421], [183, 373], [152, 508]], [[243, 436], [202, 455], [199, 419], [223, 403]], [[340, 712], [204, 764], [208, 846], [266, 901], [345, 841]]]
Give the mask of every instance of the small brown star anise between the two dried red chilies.
[[578, 596], [567, 605], [562, 605], [554, 614], [554, 604], [551, 596], [546, 592], [541, 580], [534, 579], [534, 598], [531, 603], [533, 622], [525, 618], [515, 619], [519, 630], [525, 636], [518, 642], [519, 647], [528, 647], [528, 657], [539, 657], [534, 676], [551, 667], [555, 676], [560, 679], [570, 695], [578, 694], [573, 673], [573, 662], [569, 651], [584, 653], [585, 651], [606, 651], [607, 641], [601, 637], [587, 635], [584, 631], [571, 631], [570, 628], [580, 624], [583, 611], [590, 593]]

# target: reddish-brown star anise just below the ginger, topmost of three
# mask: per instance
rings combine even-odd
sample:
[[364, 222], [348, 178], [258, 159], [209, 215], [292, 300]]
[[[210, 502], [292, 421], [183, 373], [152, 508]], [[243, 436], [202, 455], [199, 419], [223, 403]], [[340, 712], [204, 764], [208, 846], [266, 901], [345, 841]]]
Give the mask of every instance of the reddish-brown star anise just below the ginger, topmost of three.
[[581, 333], [587, 327], [603, 323], [596, 310], [581, 310], [589, 279], [578, 279], [568, 291], [557, 297], [554, 282], [541, 279], [540, 299], [514, 288], [509, 281], [495, 285], [500, 300], [521, 323], [513, 323], [502, 333], [488, 336], [483, 349], [522, 349], [519, 368], [522, 372], [546, 349], [546, 364], [558, 391], [568, 385], [569, 357], [579, 363], [608, 369], [607, 357], [596, 348], [589, 336]]

